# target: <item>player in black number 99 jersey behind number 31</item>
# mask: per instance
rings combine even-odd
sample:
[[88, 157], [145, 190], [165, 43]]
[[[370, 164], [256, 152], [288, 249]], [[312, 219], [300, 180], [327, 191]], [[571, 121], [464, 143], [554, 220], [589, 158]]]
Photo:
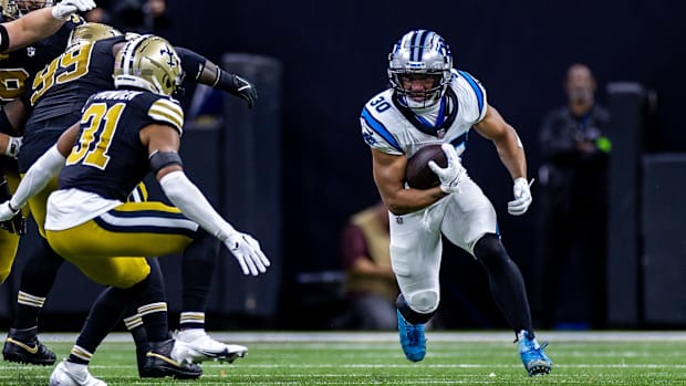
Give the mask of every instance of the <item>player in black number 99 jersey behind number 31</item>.
[[[89, 28], [90, 24], [93, 23], [79, 27], [74, 34], [79, 35], [79, 31]], [[73, 44], [63, 55], [55, 59], [35, 76], [33, 91], [28, 98], [35, 106], [25, 126], [24, 144], [20, 153], [20, 169], [22, 171], [28, 169], [45, 149], [54, 144], [59, 135], [71, 123], [80, 118], [80, 114], [74, 112], [79, 112], [91, 94], [113, 87], [111, 75], [114, 63], [113, 52], [117, 51], [125, 41], [126, 36], [115, 36], [96, 42], [86, 41], [84, 44]], [[188, 74], [187, 79], [225, 90], [246, 100], [249, 107], [252, 106], [257, 93], [250, 83], [222, 71], [189, 50], [178, 49], [178, 51], [181, 53], [181, 63]], [[13, 102], [12, 105], [18, 103]], [[42, 225], [45, 218], [46, 197], [55, 189], [54, 184], [55, 181], [51, 182], [46, 189], [29, 202], [37, 223], [39, 223], [41, 234], [44, 234]], [[33, 250], [29, 263], [24, 267], [18, 294], [17, 315], [9, 334], [12, 337], [17, 332], [22, 332], [23, 340], [21, 342], [38, 342], [35, 334], [38, 314], [63, 261], [44, 240], [41, 242], [41, 246]], [[153, 264], [155, 263], [153, 262]], [[185, 311], [180, 315], [179, 327], [181, 331], [178, 333], [178, 337], [197, 348], [194, 362], [201, 362], [206, 358], [232, 361], [247, 352], [243, 346], [216, 342], [205, 333], [204, 310], [210, 285], [207, 280], [207, 272], [211, 272], [215, 264], [216, 258], [211, 255], [207, 255], [205, 261], [196, 259], [188, 262], [184, 259], [183, 263], [183, 310]], [[139, 319], [129, 317], [125, 322], [127, 327], [133, 330]], [[27, 331], [32, 332], [32, 335], [29, 336], [23, 333]], [[15, 337], [12, 340], [20, 341]], [[29, 355], [25, 350], [20, 351], [21, 346], [14, 342], [10, 343], [11, 345], [6, 343], [3, 354], [6, 354], [6, 350], [8, 352], [19, 351], [20, 353], [17, 353], [17, 356], [10, 355], [8, 357], [6, 355], [6, 359], [43, 364], [40, 358], [35, 358], [35, 355]], [[137, 346], [138, 343], [139, 341], [136, 340]], [[38, 344], [40, 345], [40, 343]], [[40, 346], [41, 351], [46, 351], [46, 347]]]

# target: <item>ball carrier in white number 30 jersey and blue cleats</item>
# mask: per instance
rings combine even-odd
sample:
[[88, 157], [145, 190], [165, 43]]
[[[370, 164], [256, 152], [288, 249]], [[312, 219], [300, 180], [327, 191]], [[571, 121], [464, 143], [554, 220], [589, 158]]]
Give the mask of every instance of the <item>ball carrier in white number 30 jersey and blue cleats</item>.
[[[361, 116], [362, 135], [372, 148], [376, 187], [391, 216], [391, 260], [401, 288], [396, 302], [401, 345], [407, 359], [426, 354], [424, 325], [440, 301], [441, 234], [469, 252], [487, 271], [491, 294], [514, 330], [529, 375], [550, 373], [545, 344], [532, 331], [522, 275], [505, 250], [496, 211], [460, 163], [474, 127], [492, 140], [513, 180], [510, 215], [531, 204], [527, 160], [517, 132], [486, 98], [474, 76], [453, 67], [450, 49], [428, 30], [409, 31], [388, 55], [392, 87], [373, 96]], [[429, 163], [439, 185], [412, 189], [407, 159], [429, 144], [441, 144], [445, 168]]]

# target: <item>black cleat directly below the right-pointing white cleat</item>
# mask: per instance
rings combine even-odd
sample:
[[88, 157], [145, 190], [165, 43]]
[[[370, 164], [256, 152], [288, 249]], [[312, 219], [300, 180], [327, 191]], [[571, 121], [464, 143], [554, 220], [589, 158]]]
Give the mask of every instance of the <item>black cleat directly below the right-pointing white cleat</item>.
[[150, 342], [149, 351], [145, 354], [145, 364], [138, 371], [142, 378], [173, 377], [176, 379], [196, 379], [202, 375], [202, 369], [196, 364], [179, 363], [172, 357], [176, 341], [167, 340]]

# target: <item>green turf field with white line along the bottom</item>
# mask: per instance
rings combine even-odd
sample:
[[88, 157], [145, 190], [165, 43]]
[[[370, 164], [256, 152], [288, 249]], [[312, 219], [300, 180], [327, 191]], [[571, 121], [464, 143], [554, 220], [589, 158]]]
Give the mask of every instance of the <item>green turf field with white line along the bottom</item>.
[[[212, 333], [245, 344], [246, 358], [205, 363], [198, 380], [139, 379], [134, 347], [113, 334], [91, 373], [108, 385], [686, 385], [686, 333], [540, 332], [552, 374], [529, 377], [510, 333], [428, 332], [428, 354], [403, 356], [394, 333]], [[75, 335], [43, 334], [62, 358]], [[52, 366], [0, 363], [0, 385], [48, 385]]]

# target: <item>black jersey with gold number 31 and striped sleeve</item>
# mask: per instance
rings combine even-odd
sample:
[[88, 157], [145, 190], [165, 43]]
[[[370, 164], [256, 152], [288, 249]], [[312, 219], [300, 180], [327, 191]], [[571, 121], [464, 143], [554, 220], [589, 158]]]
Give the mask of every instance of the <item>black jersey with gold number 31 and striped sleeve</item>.
[[139, 132], [165, 124], [183, 133], [184, 111], [169, 96], [144, 91], [106, 91], [83, 107], [79, 139], [60, 174], [60, 189], [77, 188], [126, 201], [150, 171]]

